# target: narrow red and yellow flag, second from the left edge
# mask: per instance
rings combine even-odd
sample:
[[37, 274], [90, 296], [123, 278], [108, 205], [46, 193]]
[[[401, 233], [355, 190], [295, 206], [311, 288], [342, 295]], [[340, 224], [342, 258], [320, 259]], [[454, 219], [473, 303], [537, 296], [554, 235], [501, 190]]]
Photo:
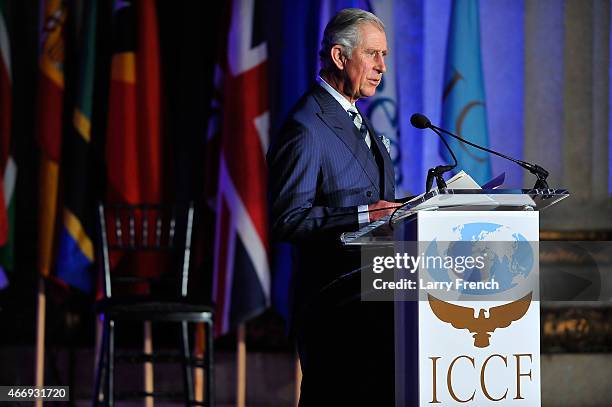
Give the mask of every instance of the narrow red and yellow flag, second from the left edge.
[[53, 264], [59, 164], [62, 148], [66, 4], [46, 0], [42, 5], [38, 60], [37, 136], [40, 146], [38, 269], [48, 277]]

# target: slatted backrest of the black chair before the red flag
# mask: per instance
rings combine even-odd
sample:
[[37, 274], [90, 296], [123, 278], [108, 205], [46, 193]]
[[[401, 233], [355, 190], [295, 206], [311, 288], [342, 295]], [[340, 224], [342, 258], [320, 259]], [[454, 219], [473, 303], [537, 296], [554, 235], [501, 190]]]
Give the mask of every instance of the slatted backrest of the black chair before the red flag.
[[[194, 205], [98, 204], [104, 295], [187, 297]], [[126, 267], [127, 264], [127, 267]], [[118, 270], [113, 270], [118, 266]]]

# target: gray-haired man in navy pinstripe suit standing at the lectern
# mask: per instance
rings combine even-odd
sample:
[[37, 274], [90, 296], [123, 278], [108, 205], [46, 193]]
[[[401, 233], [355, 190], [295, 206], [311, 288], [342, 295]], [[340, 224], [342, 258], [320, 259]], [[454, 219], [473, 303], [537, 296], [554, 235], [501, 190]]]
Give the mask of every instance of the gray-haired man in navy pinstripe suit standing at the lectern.
[[267, 156], [272, 235], [294, 243], [299, 256], [292, 331], [301, 406], [393, 403], [392, 308], [360, 301], [359, 252], [339, 240], [397, 206], [385, 143], [355, 106], [374, 95], [387, 52], [376, 16], [359, 9], [334, 16], [321, 43], [318, 83]]

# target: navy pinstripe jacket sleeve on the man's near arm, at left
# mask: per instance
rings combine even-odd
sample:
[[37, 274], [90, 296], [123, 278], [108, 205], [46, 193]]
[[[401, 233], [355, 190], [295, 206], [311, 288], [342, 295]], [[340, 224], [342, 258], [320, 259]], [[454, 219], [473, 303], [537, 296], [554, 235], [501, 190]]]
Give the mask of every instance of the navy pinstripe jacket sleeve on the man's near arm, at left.
[[332, 207], [318, 193], [324, 176], [322, 146], [308, 128], [286, 125], [279, 143], [268, 152], [272, 235], [277, 240], [338, 241], [342, 232], [357, 230], [357, 206]]

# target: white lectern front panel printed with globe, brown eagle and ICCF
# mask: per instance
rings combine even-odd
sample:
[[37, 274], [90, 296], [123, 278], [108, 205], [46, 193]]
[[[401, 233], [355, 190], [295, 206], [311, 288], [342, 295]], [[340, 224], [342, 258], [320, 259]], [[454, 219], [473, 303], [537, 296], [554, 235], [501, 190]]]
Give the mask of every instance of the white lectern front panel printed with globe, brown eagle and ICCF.
[[[474, 257], [486, 252], [487, 242], [497, 245], [481, 258], [477, 279], [453, 269], [419, 269], [420, 406], [540, 406], [538, 212], [417, 216], [423, 256], [444, 256], [455, 242], [473, 244]], [[475, 280], [497, 286], [475, 288]], [[435, 282], [447, 284], [447, 293], [444, 284], [427, 288]]]

